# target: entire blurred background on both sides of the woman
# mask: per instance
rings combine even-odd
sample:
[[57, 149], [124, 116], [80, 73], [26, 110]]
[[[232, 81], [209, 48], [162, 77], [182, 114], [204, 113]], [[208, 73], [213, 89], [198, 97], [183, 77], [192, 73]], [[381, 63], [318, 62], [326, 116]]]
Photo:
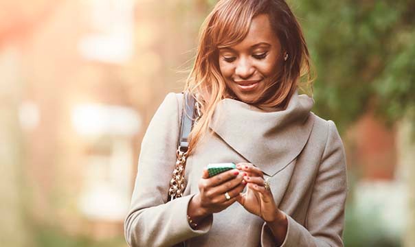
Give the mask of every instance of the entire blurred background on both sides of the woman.
[[[0, 246], [126, 246], [142, 136], [215, 2], [0, 1]], [[415, 2], [289, 4], [346, 146], [346, 246], [415, 246]]]

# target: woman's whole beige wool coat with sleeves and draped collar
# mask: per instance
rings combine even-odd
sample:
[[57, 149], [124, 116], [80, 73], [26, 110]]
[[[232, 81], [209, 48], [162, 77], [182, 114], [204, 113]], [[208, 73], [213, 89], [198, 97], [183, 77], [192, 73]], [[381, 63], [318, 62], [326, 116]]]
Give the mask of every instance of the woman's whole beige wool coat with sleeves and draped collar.
[[[169, 93], [142, 142], [125, 236], [131, 246], [276, 246], [267, 224], [238, 202], [194, 231], [186, 214], [208, 163], [249, 162], [269, 177], [274, 200], [288, 215], [282, 246], [343, 246], [346, 160], [333, 121], [310, 112], [313, 99], [295, 93], [286, 110], [263, 111], [223, 99], [214, 130], [188, 158], [183, 198], [168, 200], [183, 95]], [[167, 202], [167, 203], [166, 203]]]

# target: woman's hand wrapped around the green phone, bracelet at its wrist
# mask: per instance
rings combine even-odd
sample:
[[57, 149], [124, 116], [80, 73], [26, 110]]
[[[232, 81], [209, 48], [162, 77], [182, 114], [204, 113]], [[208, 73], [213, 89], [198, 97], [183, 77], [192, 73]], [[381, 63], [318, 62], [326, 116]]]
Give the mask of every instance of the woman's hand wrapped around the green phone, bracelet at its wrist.
[[[236, 202], [239, 193], [245, 188], [243, 172], [232, 169], [209, 178], [207, 169], [199, 180], [199, 193], [193, 196], [188, 206], [188, 215], [194, 222], [201, 222], [212, 213], [218, 213]], [[225, 193], [230, 199], [227, 200]]]

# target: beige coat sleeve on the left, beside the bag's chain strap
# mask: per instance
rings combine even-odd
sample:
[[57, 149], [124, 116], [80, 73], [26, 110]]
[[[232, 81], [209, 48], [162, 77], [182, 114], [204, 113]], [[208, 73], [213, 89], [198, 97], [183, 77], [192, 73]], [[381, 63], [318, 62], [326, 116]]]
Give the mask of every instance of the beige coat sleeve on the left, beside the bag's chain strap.
[[170, 202], [168, 185], [175, 168], [181, 104], [169, 93], [150, 121], [139, 154], [130, 211], [124, 221], [129, 246], [173, 246], [210, 230], [212, 218], [194, 231], [188, 224], [193, 195]]

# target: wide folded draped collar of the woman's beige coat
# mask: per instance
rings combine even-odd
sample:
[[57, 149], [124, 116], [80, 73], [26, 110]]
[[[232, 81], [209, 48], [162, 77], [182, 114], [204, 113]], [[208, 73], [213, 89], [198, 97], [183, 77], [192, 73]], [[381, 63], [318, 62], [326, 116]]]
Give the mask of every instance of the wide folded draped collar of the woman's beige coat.
[[314, 101], [297, 91], [285, 110], [260, 110], [235, 99], [216, 106], [210, 128], [238, 154], [273, 176], [293, 161], [309, 139]]

